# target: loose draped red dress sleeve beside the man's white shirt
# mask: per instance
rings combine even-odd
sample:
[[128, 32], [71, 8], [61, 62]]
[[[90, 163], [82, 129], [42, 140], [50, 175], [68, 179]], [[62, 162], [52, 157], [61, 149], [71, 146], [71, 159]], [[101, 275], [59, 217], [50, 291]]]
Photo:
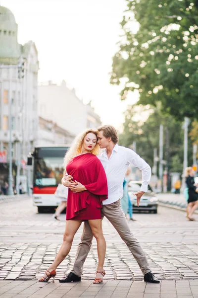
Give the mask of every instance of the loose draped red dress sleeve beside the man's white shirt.
[[94, 195], [98, 195], [100, 197], [100, 201], [106, 200], [108, 198], [106, 174], [98, 158], [96, 159], [96, 163], [93, 164], [93, 173], [93, 182], [84, 186], [89, 192]]

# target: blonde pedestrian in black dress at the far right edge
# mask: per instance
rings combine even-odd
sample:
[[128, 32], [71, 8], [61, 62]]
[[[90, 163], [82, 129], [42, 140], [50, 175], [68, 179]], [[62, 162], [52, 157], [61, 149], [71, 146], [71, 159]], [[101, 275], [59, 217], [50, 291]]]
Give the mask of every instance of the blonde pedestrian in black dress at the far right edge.
[[191, 166], [186, 168], [186, 185], [188, 187], [188, 205], [187, 205], [187, 219], [195, 221], [192, 218], [194, 212], [198, 209], [198, 183], [194, 179], [195, 171]]

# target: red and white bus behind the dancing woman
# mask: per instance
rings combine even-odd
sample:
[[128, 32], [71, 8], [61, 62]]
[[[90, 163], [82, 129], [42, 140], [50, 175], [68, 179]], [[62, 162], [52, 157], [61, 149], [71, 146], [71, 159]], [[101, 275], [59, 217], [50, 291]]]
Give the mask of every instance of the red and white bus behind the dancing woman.
[[33, 165], [33, 205], [42, 213], [46, 208], [54, 209], [60, 199], [54, 192], [63, 176], [63, 159], [69, 145], [35, 147], [32, 153]]

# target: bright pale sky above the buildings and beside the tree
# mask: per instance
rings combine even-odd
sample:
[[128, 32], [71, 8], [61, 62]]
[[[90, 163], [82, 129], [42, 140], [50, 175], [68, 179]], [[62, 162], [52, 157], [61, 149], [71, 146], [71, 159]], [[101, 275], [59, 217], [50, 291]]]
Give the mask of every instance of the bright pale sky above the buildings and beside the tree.
[[103, 124], [121, 130], [123, 112], [137, 100], [121, 102], [121, 86], [110, 85], [112, 57], [118, 49], [125, 0], [0, 0], [18, 24], [18, 42], [35, 42], [39, 82], [69, 88], [92, 106]]

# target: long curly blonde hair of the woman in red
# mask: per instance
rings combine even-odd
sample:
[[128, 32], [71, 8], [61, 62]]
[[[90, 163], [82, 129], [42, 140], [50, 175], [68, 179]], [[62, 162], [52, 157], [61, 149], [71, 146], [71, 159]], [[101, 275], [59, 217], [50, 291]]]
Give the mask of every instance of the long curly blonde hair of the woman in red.
[[[87, 134], [93, 133], [97, 137], [98, 141], [98, 131], [93, 129], [87, 129], [83, 133], [79, 134], [73, 141], [71, 147], [67, 150], [65, 157], [64, 157], [64, 170], [66, 168], [67, 163], [73, 159], [75, 156], [79, 155], [81, 153], [82, 149], [82, 143], [87, 136]], [[94, 155], [98, 155], [100, 153], [99, 144], [97, 143], [95, 148], [90, 151], [90, 153], [93, 153]]]

